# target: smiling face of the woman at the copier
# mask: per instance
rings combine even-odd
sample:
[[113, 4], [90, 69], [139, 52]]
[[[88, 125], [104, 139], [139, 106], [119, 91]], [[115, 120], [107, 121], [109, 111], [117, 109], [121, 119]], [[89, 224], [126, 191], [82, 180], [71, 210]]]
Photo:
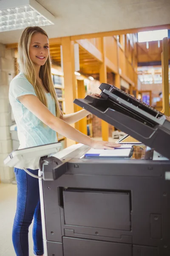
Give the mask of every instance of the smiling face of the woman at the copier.
[[43, 66], [49, 55], [49, 42], [46, 35], [36, 33], [31, 38], [29, 55], [35, 66]]

